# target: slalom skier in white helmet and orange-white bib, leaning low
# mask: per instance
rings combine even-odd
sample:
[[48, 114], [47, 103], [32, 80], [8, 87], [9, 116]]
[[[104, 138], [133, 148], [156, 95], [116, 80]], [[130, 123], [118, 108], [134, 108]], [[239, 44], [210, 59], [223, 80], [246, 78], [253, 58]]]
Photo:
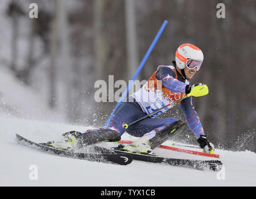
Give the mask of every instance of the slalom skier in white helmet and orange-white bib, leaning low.
[[[200, 69], [204, 60], [202, 50], [192, 44], [182, 44], [176, 50], [173, 65], [160, 65], [150, 76], [139, 91], [129, 96], [128, 101], [122, 102], [114, 111], [111, 122], [106, 128], [90, 129], [84, 132], [71, 131], [63, 134], [61, 141], [49, 142], [48, 145], [57, 149], [74, 149], [74, 147], [88, 146], [102, 141], [120, 141], [126, 131], [139, 139], [127, 145], [124, 149], [130, 152], [150, 153], [152, 149], [167, 141], [174, 133], [184, 129], [185, 123], [176, 118], [155, 118], [172, 106], [161, 109], [152, 116], [145, 118], [127, 129], [129, 124], [143, 116], [152, 113], [176, 99], [190, 93], [197, 83], [190, 86], [189, 81]], [[161, 83], [160, 88], [159, 83]], [[204, 134], [199, 116], [192, 104], [192, 96], [180, 102], [187, 124], [194, 133], [199, 146], [204, 152], [214, 153], [214, 145]]]

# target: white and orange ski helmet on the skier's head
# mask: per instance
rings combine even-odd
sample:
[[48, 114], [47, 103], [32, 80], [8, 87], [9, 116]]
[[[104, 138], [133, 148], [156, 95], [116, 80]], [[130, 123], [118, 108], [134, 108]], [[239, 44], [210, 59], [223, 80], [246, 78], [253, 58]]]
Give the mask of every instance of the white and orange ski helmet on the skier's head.
[[[178, 68], [184, 69], [189, 60], [196, 60], [199, 62], [203, 62], [204, 54], [202, 50], [192, 44], [182, 44], [176, 50], [175, 53], [175, 62]], [[189, 65], [187, 65], [189, 67]], [[199, 70], [200, 65], [197, 66], [197, 70]]]

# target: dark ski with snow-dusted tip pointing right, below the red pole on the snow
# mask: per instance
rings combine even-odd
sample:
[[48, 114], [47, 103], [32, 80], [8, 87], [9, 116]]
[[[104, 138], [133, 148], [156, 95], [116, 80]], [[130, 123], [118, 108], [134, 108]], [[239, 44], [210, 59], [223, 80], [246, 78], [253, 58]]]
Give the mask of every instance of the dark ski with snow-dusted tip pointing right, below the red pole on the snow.
[[187, 167], [197, 170], [212, 170], [219, 171], [222, 168], [222, 162], [220, 160], [190, 160], [190, 159], [174, 159], [167, 157], [160, 157], [152, 154], [138, 154], [129, 152], [119, 147], [113, 147], [111, 149], [103, 149], [101, 147], [94, 147], [95, 150], [100, 152], [113, 152], [116, 154], [130, 154], [134, 160], [141, 160], [145, 162], [164, 163], [179, 167]]

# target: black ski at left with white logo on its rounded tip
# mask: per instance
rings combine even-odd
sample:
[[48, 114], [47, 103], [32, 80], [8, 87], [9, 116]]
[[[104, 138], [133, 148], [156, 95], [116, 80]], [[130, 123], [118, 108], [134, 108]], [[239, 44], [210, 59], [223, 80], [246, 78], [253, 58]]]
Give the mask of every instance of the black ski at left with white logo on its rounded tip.
[[[42, 150], [44, 152], [48, 152], [51, 154], [56, 154], [63, 157], [71, 157], [74, 159], [83, 159], [90, 160], [96, 162], [111, 162], [114, 164], [127, 165], [132, 162], [132, 155], [130, 154], [113, 154], [111, 153], [84, 153], [84, 152], [74, 152], [72, 150], [62, 150], [62, 149], [54, 149], [52, 147], [45, 146], [43, 144], [39, 144], [36, 142], [29, 141], [28, 139], [16, 134], [17, 141], [20, 144], [24, 144], [26, 146], [32, 147], [33, 149]], [[100, 149], [100, 147], [98, 147]], [[104, 150], [102, 148], [101, 150]]]

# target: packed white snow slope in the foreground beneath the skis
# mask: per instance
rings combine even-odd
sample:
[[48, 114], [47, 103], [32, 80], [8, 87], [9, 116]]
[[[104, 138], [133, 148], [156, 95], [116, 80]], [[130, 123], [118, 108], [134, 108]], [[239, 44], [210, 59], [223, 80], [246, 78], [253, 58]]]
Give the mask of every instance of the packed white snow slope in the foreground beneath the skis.
[[[36, 142], [59, 139], [63, 132], [84, 131], [89, 126], [0, 118], [0, 186], [255, 186], [256, 154], [216, 149], [225, 166], [222, 179], [217, 172], [200, 171], [134, 160], [129, 165], [59, 157], [18, 144], [15, 134]], [[135, 137], [124, 134], [124, 140]], [[170, 144], [169, 141], [164, 143]], [[156, 149], [165, 157], [209, 159], [199, 155]], [[38, 179], [30, 180], [29, 167], [36, 165]], [[219, 174], [220, 176], [220, 174]]]

